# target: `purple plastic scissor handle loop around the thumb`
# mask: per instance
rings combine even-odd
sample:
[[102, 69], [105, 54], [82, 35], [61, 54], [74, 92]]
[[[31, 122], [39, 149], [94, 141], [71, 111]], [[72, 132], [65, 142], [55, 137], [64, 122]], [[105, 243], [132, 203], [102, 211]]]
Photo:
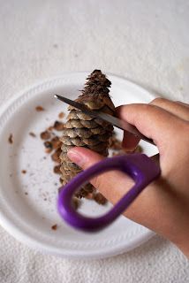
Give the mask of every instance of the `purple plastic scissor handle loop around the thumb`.
[[[72, 206], [74, 192], [88, 180], [110, 170], [125, 172], [135, 181], [134, 186], [105, 215], [98, 218], [88, 218], [79, 214]], [[87, 170], [80, 172], [64, 186], [58, 195], [57, 210], [69, 225], [77, 229], [87, 232], [101, 230], [122, 214], [140, 192], [159, 175], [160, 167], [144, 154], [135, 153], [105, 158]]]

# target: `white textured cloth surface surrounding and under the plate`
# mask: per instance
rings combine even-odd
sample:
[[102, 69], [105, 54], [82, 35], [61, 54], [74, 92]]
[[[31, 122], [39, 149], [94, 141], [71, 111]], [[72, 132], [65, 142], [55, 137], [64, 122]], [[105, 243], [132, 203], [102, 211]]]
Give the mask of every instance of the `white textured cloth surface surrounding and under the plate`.
[[[0, 103], [66, 71], [117, 73], [189, 102], [189, 1], [0, 0]], [[0, 149], [2, 150], [2, 149]], [[189, 264], [155, 236], [125, 255], [44, 256], [0, 227], [0, 282], [189, 282]]]

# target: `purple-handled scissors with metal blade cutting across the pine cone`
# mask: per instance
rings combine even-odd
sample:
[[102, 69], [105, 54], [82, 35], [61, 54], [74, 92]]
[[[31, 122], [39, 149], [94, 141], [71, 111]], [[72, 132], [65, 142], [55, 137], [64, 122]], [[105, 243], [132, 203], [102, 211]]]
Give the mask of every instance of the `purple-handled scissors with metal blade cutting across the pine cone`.
[[[121, 119], [117, 119], [116, 117], [102, 113], [101, 111], [91, 111], [85, 104], [77, 103], [64, 96], [55, 95], [54, 97], [85, 112], [89, 116], [108, 121], [113, 126], [126, 130], [140, 139], [155, 145], [151, 139], [140, 134], [135, 126], [132, 126]], [[135, 181], [133, 187], [131, 187], [122, 199], [119, 200], [117, 204], [105, 215], [98, 218], [89, 218], [79, 214], [72, 205], [72, 196], [74, 193], [79, 189], [79, 187], [83, 186], [87, 183], [87, 181], [91, 180], [95, 176], [102, 174], [102, 172], [108, 172], [111, 170], [118, 170], [129, 175], [132, 180]], [[61, 218], [63, 218], [67, 224], [76, 229], [86, 232], [100, 231], [106, 226], [109, 226], [118, 216], [120, 216], [136, 199], [136, 197], [140, 195], [142, 190], [160, 176], [160, 173], [161, 170], [159, 165], [145, 154], [132, 153], [118, 157], [106, 157], [101, 162], [89, 167], [83, 172], [80, 172], [68, 184], [62, 187], [63, 189], [60, 189], [60, 193], [57, 197], [57, 210]]]

